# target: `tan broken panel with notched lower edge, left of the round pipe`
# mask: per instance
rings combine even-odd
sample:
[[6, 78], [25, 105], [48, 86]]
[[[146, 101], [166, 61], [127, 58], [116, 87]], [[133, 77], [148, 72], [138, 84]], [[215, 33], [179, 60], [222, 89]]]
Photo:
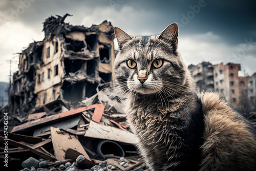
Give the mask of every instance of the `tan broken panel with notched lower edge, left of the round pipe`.
[[83, 149], [79, 140], [67, 132], [60, 131], [58, 128], [51, 127], [52, 142], [54, 148], [54, 154], [57, 160], [65, 160], [66, 152], [68, 149], [73, 149], [74, 151], [82, 154], [86, 158], [88, 165], [92, 164], [92, 160]]

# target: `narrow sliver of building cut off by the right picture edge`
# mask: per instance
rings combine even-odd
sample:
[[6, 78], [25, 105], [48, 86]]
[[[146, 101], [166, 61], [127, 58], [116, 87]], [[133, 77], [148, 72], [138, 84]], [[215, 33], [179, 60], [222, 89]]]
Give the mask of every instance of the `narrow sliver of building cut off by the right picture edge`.
[[256, 73], [248, 77], [248, 98], [251, 110], [256, 110]]

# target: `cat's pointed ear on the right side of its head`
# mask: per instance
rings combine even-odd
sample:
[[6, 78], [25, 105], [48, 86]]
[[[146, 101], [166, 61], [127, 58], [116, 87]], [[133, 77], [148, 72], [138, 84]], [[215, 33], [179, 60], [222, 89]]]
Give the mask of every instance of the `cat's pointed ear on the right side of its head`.
[[170, 24], [167, 26], [164, 31], [159, 35], [159, 39], [163, 39], [170, 44], [175, 44], [177, 47], [178, 43], [178, 26], [176, 23]]

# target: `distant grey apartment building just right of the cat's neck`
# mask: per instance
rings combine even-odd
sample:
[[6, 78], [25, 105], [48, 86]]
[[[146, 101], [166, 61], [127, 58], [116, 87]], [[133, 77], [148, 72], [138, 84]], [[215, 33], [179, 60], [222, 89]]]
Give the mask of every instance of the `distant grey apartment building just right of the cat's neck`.
[[214, 91], [214, 66], [210, 62], [202, 62], [196, 66], [189, 65], [188, 69], [194, 77], [198, 94], [203, 91]]

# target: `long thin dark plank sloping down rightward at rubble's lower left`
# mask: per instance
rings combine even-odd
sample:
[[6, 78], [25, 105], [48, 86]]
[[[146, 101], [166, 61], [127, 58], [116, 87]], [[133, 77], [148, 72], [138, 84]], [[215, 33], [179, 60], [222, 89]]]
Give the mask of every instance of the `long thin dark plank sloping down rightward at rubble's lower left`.
[[[0, 141], [2, 142], [5, 142], [5, 138], [0, 136]], [[26, 149], [29, 149], [32, 153], [38, 155], [38, 156], [41, 156], [41, 157], [44, 157], [46, 159], [49, 159], [49, 160], [56, 160], [55, 158], [45, 154], [45, 153], [42, 153], [40, 151], [38, 151], [37, 149], [33, 148], [32, 146], [30, 145], [27, 145], [25, 143], [22, 143], [22, 142], [17, 142], [17, 141], [14, 141], [12, 139], [8, 139], [8, 144], [10, 145], [14, 145], [14, 146], [19, 146], [19, 147], [22, 147], [22, 148], [26, 148]]]

